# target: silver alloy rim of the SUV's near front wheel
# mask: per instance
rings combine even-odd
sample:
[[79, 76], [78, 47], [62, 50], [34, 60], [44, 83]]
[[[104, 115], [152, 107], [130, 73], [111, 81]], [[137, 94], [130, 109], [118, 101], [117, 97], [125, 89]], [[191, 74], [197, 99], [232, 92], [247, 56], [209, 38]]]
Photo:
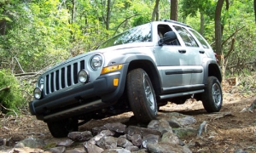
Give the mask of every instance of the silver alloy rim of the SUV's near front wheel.
[[145, 79], [144, 77], [144, 81], [143, 81], [143, 85], [144, 85], [144, 92], [148, 101], [148, 105], [150, 107], [150, 109], [152, 111], [155, 110], [155, 105], [154, 105], [154, 93], [153, 93], [153, 89], [151, 88], [149, 82], [147, 79]]

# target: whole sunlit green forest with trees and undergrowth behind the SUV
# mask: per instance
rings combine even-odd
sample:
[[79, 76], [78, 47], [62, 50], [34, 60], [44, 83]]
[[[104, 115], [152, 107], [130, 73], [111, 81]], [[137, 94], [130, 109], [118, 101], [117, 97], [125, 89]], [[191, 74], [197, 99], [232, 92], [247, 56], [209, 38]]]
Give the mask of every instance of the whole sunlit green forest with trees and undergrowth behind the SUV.
[[[254, 5], [253, 0], [0, 0], [0, 108], [27, 112], [43, 71], [151, 20], [178, 20], [199, 31], [216, 51], [224, 78], [250, 75], [256, 69]], [[256, 88], [255, 79], [239, 85]]]

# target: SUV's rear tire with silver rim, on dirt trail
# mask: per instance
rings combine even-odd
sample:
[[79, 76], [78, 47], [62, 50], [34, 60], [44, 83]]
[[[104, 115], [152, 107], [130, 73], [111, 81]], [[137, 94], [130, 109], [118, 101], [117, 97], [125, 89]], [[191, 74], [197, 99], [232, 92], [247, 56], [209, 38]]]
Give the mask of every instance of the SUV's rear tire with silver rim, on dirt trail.
[[207, 87], [201, 97], [207, 112], [218, 112], [223, 102], [222, 88], [216, 77], [208, 77]]

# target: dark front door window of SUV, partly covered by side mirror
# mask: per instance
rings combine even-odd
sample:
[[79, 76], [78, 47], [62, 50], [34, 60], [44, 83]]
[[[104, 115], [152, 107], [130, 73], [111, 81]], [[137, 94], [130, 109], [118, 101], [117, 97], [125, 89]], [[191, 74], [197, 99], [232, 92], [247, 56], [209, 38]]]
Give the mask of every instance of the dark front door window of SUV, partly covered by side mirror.
[[[159, 36], [159, 40], [163, 38], [166, 34], [166, 32], [172, 31], [172, 28], [168, 25], [158, 25], [157, 26], [157, 32]], [[175, 37], [174, 37], [175, 36]], [[177, 39], [176, 34], [173, 31], [173, 40], [170, 42], [165, 42], [166, 45], [173, 45], [173, 46], [180, 46], [180, 43]]]

